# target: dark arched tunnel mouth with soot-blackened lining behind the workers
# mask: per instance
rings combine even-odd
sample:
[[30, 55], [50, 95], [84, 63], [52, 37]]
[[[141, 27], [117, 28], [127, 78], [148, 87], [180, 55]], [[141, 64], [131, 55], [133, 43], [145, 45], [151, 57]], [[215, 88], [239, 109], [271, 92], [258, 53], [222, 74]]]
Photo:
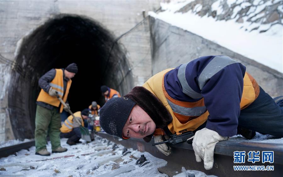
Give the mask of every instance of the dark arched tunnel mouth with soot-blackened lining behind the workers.
[[39, 78], [52, 68], [78, 65], [68, 102], [72, 112], [92, 101], [103, 105], [100, 86], [129, 91], [133, 78], [125, 49], [114, 35], [85, 16], [60, 14], [23, 38], [9, 85], [9, 117], [16, 139], [33, 138]]

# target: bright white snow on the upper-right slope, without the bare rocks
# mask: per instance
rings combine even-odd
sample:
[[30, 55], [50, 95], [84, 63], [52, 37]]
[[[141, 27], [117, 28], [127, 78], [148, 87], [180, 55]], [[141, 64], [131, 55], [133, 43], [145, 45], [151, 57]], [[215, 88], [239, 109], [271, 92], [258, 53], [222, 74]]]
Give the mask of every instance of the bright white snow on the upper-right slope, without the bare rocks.
[[[192, 13], [192, 10], [187, 13], [176, 13], [177, 10], [190, 2], [171, 1], [170, 3], [161, 3], [163, 12], [158, 14], [149, 12], [148, 14], [283, 73], [282, 25], [273, 25], [267, 32], [259, 33], [260, 30], [268, 29], [270, 24], [250, 24], [250, 22], [246, 21], [244, 23], [236, 23], [237, 18], [228, 21], [216, 21], [211, 16], [200, 17]], [[212, 7], [221, 10], [219, 9], [219, 2], [216, 1]], [[201, 8], [201, 5], [198, 4], [193, 11], [197, 12]], [[234, 10], [234, 14], [236, 14], [237, 9]], [[258, 25], [258, 30], [249, 32]]]

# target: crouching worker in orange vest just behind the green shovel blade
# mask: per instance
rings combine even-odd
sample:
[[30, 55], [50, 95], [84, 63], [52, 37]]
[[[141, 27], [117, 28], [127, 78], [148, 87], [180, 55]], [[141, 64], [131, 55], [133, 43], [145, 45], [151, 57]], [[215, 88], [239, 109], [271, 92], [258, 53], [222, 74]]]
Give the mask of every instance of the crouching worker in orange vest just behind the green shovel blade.
[[[76, 143], [80, 143], [80, 125], [84, 127], [84, 120], [88, 119], [88, 114], [88, 109], [84, 109], [81, 112], [75, 112], [75, 118], [70, 115], [60, 128], [63, 137], [69, 138], [67, 144], [69, 144], [70, 146], [75, 145]], [[74, 119], [76, 119], [77, 121]]]

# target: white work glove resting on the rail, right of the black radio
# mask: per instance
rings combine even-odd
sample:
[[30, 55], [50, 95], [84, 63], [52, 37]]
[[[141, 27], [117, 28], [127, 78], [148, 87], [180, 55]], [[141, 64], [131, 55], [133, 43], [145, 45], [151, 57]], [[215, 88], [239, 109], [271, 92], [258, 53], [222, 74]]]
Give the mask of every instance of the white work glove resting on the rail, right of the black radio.
[[197, 162], [201, 162], [203, 159], [204, 168], [206, 170], [212, 169], [216, 143], [229, 139], [230, 137], [221, 136], [216, 131], [209, 130], [207, 128], [198, 130], [195, 133], [192, 143]]

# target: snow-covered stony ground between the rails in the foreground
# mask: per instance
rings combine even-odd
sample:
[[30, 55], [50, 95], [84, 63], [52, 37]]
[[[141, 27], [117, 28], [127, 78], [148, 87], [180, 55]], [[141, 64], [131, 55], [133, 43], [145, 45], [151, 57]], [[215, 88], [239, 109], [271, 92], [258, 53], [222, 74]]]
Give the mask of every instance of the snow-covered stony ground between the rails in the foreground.
[[[155, 158], [148, 152], [134, 151], [122, 156], [122, 145], [114, 151], [113, 142], [102, 139], [98, 136], [91, 143], [81, 143], [74, 146], [66, 144], [67, 139], [61, 139], [61, 145], [67, 147], [68, 151], [63, 153], [53, 153], [51, 156], [35, 155], [35, 147], [17, 152], [17, 156], [10, 155], [1, 158], [0, 176], [167, 176], [158, 172], [159, 167], [163, 167], [167, 162], [163, 159]], [[51, 145], [48, 142], [47, 150], [51, 152]], [[141, 154], [150, 163], [139, 167], [135, 165], [136, 159]], [[179, 174], [177, 174], [179, 173]], [[196, 170], [180, 169], [177, 176], [187, 176], [195, 174], [196, 177], [206, 177], [203, 172]]]

